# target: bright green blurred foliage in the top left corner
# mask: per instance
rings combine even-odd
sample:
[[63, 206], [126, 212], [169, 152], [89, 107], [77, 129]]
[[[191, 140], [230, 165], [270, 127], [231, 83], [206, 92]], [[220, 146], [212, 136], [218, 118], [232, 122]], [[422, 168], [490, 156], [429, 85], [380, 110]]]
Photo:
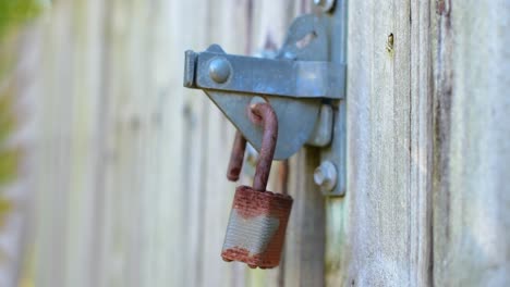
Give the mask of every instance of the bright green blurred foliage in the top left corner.
[[0, 0], [0, 37], [19, 24], [35, 17], [40, 9], [38, 0]]

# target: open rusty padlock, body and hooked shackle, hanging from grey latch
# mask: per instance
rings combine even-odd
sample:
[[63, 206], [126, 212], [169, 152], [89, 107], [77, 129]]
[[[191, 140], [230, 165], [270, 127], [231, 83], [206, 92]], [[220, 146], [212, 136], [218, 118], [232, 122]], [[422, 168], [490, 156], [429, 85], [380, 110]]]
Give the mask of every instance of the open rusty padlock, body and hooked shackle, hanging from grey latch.
[[264, 128], [260, 154], [253, 188], [235, 189], [221, 257], [250, 267], [271, 269], [280, 262], [292, 198], [266, 190], [278, 137], [275, 111], [268, 103], [257, 103], [248, 114], [252, 122]]

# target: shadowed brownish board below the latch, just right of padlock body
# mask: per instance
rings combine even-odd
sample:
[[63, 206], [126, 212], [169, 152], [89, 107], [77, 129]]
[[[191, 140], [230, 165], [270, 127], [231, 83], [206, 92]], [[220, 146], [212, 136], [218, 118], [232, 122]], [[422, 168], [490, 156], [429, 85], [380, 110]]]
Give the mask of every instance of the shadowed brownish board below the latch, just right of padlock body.
[[289, 195], [294, 198], [284, 250], [284, 286], [324, 286], [325, 207], [313, 180], [318, 150], [306, 148], [290, 162]]

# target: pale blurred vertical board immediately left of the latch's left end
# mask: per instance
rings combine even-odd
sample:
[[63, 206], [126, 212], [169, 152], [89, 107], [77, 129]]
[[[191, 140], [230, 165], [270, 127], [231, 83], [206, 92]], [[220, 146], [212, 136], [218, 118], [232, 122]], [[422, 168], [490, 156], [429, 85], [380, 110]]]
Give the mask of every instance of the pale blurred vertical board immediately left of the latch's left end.
[[[154, 148], [149, 152], [147, 167], [154, 172], [144, 190], [146, 216], [146, 254], [144, 286], [181, 286], [187, 269], [184, 259], [191, 248], [184, 249], [187, 229], [183, 225], [183, 203], [190, 190], [183, 188], [183, 163], [189, 159], [182, 154], [183, 97], [182, 78], [175, 73], [182, 66], [179, 26], [184, 17], [179, 1], [157, 1], [148, 5], [147, 49], [150, 55], [148, 68], [148, 92], [153, 95], [148, 123]], [[147, 29], [147, 28], [146, 28]], [[185, 226], [186, 228], [183, 228]], [[178, 262], [184, 262], [178, 264]]]

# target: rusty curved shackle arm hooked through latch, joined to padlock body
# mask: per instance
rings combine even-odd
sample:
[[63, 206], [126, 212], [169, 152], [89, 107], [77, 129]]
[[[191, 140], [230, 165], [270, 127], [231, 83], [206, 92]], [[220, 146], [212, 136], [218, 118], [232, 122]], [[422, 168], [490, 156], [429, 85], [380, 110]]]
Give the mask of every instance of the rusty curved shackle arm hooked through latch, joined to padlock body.
[[253, 189], [266, 191], [278, 140], [278, 117], [271, 105], [265, 102], [250, 105], [248, 117], [264, 129], [255, 177], [253, 178]]

